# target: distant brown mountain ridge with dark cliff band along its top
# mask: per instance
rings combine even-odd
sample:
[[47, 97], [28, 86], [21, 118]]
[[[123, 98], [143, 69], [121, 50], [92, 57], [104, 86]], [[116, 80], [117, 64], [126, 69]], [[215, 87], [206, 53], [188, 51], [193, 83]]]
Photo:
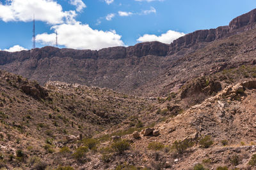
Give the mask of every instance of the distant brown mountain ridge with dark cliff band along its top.
[[[245, 46], [248, 48], [246, 50], [251, 50], [252, 53], [252, 46], [255, 44], [252, 38], [255, 35], [255, 16], [256, 9], [234, 18], [227, 26], [195, 31], [176, 39], [170, 45], [146, 42], [129, 47], [104, 48], [99, 51], [59, 49], [52, 46], [14, 53], [1, 51], [0, 68], [21, 74], [29, 80], [37, 80], [41, 85], [47, 81], [65, 81], [107, 87], [140, 96], [165, 95], [166, 92], [172, 92], [183, 85], [191, 76], [204, 74], [206, 67], [218, 68], [227, 64], [247, 62], [246, 57], [234, 59], [234, 55], [225, 55], [224, 51], [231, 50], [236, 51], [237, 56], [244, 55], [241, 51], [243, 49], [237, 48]], [[236, 39], [236, 43], [228, 44], [228, 39], [233, 42], [232, 38], [236, 38], [234, 35], [240, 34], [247, 36], [250, 41], [241, 36], [243, 39]], [[209, 46], [212, 46], [211, 49], [208, 49]], [[218, 48], [224, 50], [220, 55], [215, 52]], [[204, 67], [197, 68], [202, 64], [195, 63], [200, 60], [195, 55], [205, 49], [211, 50], [211, 59], [205, 56], [209, 60], [204, 60]], [[189, 60], [191, 67], [182, 66], [185, 59]], [[186, 71], [180, 77], [182, 69]], [[193, 72], [196, 74], [191, 75]], [[159, 81], [161, 85], [157, 85]]]

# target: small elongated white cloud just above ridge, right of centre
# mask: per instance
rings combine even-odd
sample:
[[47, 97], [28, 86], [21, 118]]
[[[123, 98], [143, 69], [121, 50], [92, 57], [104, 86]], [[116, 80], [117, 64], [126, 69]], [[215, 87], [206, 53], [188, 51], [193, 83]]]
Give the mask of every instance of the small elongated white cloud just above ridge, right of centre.
[[144, 34], [140, 38], [137, 39], [139, 42], [145, 42], [145, 41], [159, 41], [161, 43], [170, 44], [173, 42], [173, 40], [180, 38], [181, 36], [184, 36], [185, 34], [183, 32], [177, 32], [169, 30], [164, 34], [161, 34], [161, 36], [156, 36], [154, 34]]

